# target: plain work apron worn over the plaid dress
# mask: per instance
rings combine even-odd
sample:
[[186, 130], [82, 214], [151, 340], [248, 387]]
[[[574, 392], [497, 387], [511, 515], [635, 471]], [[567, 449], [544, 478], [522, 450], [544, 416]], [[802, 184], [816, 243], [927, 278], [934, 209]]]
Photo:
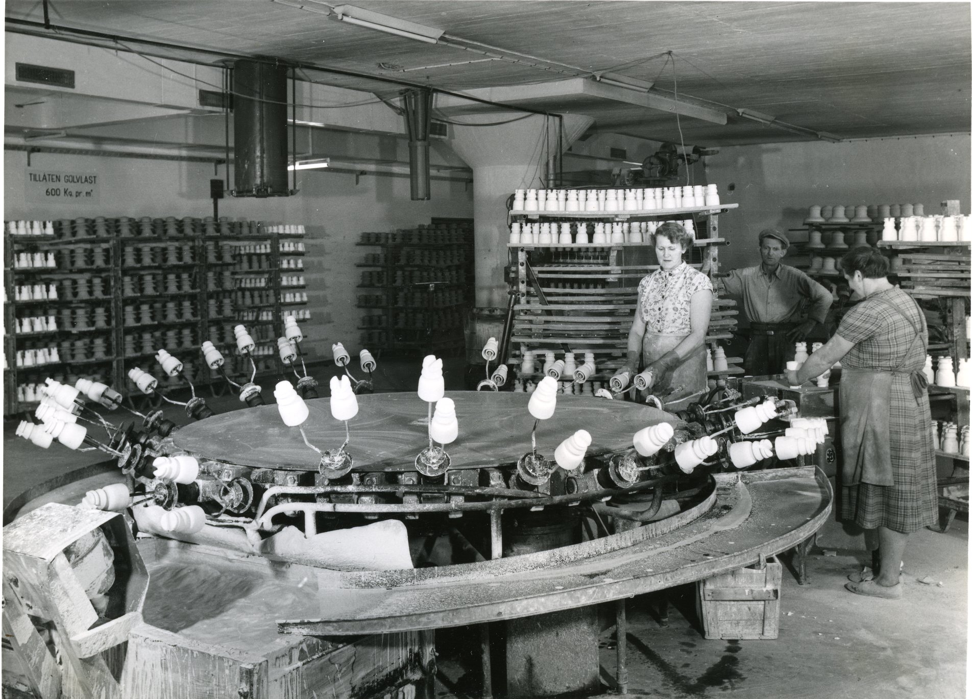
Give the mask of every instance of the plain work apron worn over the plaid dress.
[[[916, 398], [928, 387], [927, 378], [922, 371], [900, 371], [915, 342], [921, 337], [920, 328], [891, 303], [884, 299], [875, 300], [894, 309], [908, 320], [915, 329], [915, 339], [905, 349], [898, 365], [890, 371], [843, 368], [840, 401], [841, 443], [844, 451], [841, 479], [844, 486], [859, 483], [894, 484], [890, 449], [891, 382], [895, 376], [909, 374], [912, 392]], [[921, 350], [922, 354], [924, 352], [925, 350]]]

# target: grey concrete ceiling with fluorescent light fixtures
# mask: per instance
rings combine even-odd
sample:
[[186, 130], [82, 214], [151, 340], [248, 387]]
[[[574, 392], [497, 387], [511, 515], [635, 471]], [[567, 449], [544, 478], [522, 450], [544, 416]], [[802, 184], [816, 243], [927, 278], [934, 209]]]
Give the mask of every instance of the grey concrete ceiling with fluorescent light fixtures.
[[[814, 132], [850, 139], [969, 130], [967, 2], [354, 2], [443, 30], [438, 44], [338, 21], [319, 0], [285, 2], [71, 0], [49, 8], [55, 25], [196, 49], [122, 42], [151, 55], [214, 65], [223, 57], [207, 51], [275, 56], [364, 76], [305, 72], [322, 83], [381, 96], [402, 87], [378, 79], [468, 91], [590, 115], [599, 131], [653, 141], [730, 146], [811, 140]], [[44, 19], [40, 2], [8, 0], [6, 17], [8, 31], [52, 36], [33, 24]], [[55, 65], [56, 57], [38, 62]], [[650, 89], [595, 83], [605, 72]], [[462, 113], [454, 100], [439, 104], [443, 114]]]

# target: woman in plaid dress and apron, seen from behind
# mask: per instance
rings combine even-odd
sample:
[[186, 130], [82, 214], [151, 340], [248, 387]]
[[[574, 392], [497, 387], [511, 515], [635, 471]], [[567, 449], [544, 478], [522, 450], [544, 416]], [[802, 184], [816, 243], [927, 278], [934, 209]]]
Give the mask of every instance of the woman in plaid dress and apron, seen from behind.
[[858, 574], [846, 586], [857, 594], [897, 598], [908, 535], [934, 524], [938, 508], [922, 372], [928, 330], [915, 300], [887, 281], [888, 263], [878, 250], [855, 248], [842, 264], [851, 289], [864, 300], [799, 371], [787, 372], [787, 380], [803, 383], [841, 361], [841, 516], [877, 529], [880, 542], [874, 579]]

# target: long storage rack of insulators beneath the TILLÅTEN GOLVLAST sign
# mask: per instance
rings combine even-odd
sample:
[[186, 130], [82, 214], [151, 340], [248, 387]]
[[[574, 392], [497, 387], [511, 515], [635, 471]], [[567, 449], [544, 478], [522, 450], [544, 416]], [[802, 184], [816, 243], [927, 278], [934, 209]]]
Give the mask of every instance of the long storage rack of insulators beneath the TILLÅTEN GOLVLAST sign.
[[[79, 221], [84, 228], [90, 231], [95, 229], [95, 221], [98, 222], [96, 235], [86, 235], [85, 237], [72, 237], [76, 232], [76, 225]], [[142, 220], [145, 220], [145, 229], [141, 228]], [[122, 225], [124, 221], [124, 225]], [[151, 225], [151, 229], [148, 227]], [[128, 234], [124, 234], [127, 229]], [[151, 230], [151, 235], [140, 235]], [[216, 232], [219, 231], [217, 234]], [[221, 378], [214, 375], [202, 363], [199, 348], [203, 341], [211, 340], [230, 358], [235, 351], [235, 342], [232, 328], [238, 322], [246, 324], [246, 320], [240, 320], [236, 309], [239, 307], [230, 304], [229, 313], [226, 313], [226, 304], [223, 298], [230, 296], [233, 292], [232, 286], [226, 286], [227, 275], [230, 267], [237, 262], [235, 251], [229, 252], [222, 250], [223, 247], [241, 241], [249, 242], [251, 239], [268, 240], [272, 244], [273, 267], [279, 268], [279, 240], [286, 236], [276, 233], [261, 232], [261, 224], [258, 221], [204, 221], [199, 218], [185, 217], [176, 220], [169, 216], [165, 218], [154, 218], [151, 224], [148, 219], [138, 218], [98, 218], [98, 219], [78, 219], [55, 220], [53, 221], [54, 235], [12, 235], [7, 226], [4, 229], [4, 292], [6, 300], [4, 303], [4, 322], [6, 335], [4, 338], [4, 357], [6, 368], [4, 370], [4, 414], [13, 415], [22, 411], [32, 411], [37, 407], [37, 402], [26, 402], [18, 400], [17, 387], [24, 383], [43, 383], [44, 379], [52, 376], [58, 381], [69, 381], [77, 378], [91, 378], [97, 381], [112, 384], [123, 394], [141, 395], [127, 381], [127, 371], [134, 366], [141, 366], [149, 373], [156, 376], [159, 380], [161, 392], [169, 392], [186, 385], [182, 380], [173, 380], [163, 377], [161, 372], [154, 367], [154, 355], [156, 350], [165, 348], [178, 356], [188, 368], [193, 385], [211, 385], [214, 392], [224, 389], [225, 383]], [[252, 233], [251, 233], [252, 232]], [[252, 238], [251, 238], [252, 236]], [[167, 256], [170, 247], [178, 247], [179, 257]], [[104, 248], [104, 265], [98, 267], [72, 267], [69, 249], [89, 249]], [[133, 251], [130, 249], [141, 249]], [[155, 249], [155, 250], [154, 250]], [[156, 251], [160, 250], [160, 251]], [[57, 266], [54, 268], [35, 267], [18, 268], [16, 259], [18, 252], [41, 251], [45, 254], [52, 252], [57, 258]], [[285, 252], [287, 254], [298, 254], [298, 252]], [[299, 254], [302, 254], [300, 252]], [[134, 256], [133, 256], [134, 255]], [[99, 254], [99, 257], [101, 255]], [[175, 261], [173, 261], [175, 260]], [[299, 270], [295, 270], [299, 273]], [[89, 279], [92, 274], [100, 275], [102, 280], [103, 293], [100, 296], [73, 298], [67, 293], [68, 281], [76, 279]], [[175, 274], [179, 277], [180, 286], [178, 290], [171, 291], [167, 287], [165, 275]], [[156, 290], [152, 294], [145, 294], [139, 289], [138, 293], [132, 292], [125, 294], [126, 287], [132, 288], [126, 277], [138, 277], [140, 275], [154, 275], [156, 280]], [[188, 275], [183, 277], [182, 275]], [[272, 304], [274, 314], [274, 329], [277, 334], [283, 334], [283, 308], [281, 303], [280, 274], [279, 269], [271, 275], [275, 283], [268, 286], [276, 291], [274, 303]], [[189, 281], [188, 287], [184, 282]], [[23, 284], [53, 283], [57, 286], [58, 298], [17, 300], [15, 288]], [[290, 289], [292, 287], [286, 287]], [[87, 295], [87, 294], [86, 294]], [[210, 313], [210, 302], [216, 301], [216, 313]], [[184, 314], [181, 319], [171, 319], [170, 315], [163, 315], [166, 303], [177, 303], [180, 312], [183, 309], [183, 302], [189, 303], [189, 314]], [[142, 306], [148, 308], [143, 313]], [[297, 304], [290, 304], [297, 305]], [[62, 310], [80, 309], [91, 310], [95, 307], [106, 309], [106, 326], [92, 327], [88, 325], [70, 326], [62, 322]], [[56, 316], [58, 329], [43, 332], [19, 333], [17, 332], [18, 316]], [[134, 318], [134, 322], [132, 319]], [[167, 319], [168, 318], [168, 319]], [[178, 330], [178, 346], [168, 345], [164, 333]], [[189, 337], [184, 337], [184, 331], [190, 333]], [[152, 333], [151, 338], [133, 340], [133, 335], [140, 333]], [[26, 344], [43, 341], [46, 345], [60, 348], [66, 347], [66, 343], [74, 342], [76, 339], [85, 339], [91, 336], [100, 336], [108, 340], [106, 345], [107, 352], [103, 357], [90, 357], [76, 359], [61, 352], [61, 360], [46, 365], [17, 366], [17, 350], [23, 349]], [[127, 340], [126, 340], [127, 336]], [[188, 340], [187, 342], [183, 342]], [[141, 341], [141, 342], [140, 342]], [[142, 351], [144, 345], [151, 344], [152, 351]], [[135, 347], [133, 347], [133, 344]], [[157, 347], [156, 347], [157, 345]], [[127, 350], [126, 350], [127, 348]], [[274, 351], [276, 345], [274, 343]], [[70, 356], [70, 358], [69, 358]], [[273, 355], [270, 355], [273, 358]], [[249, 377], [251, 369], [249, 365], [239, 367], [239, 375], [245, 374]], [[245, 369], [245, 371], [244, 371]], [[230, 367], [230, 371], [233, 368]], [[73, 381], [71, 382], [73, 383]], [[160, 398], [155, 399], [160, 402]]]

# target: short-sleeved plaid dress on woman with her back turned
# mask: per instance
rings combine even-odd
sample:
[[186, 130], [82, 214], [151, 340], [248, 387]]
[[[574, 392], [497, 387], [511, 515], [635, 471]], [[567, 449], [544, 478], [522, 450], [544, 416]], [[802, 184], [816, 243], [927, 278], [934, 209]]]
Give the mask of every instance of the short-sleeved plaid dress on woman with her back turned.
[[[916, 326], [921, 339], [914, 342]], [[924, 314], [911, 296], [895, 287], [874, 294], [851, 309], [837, 334], [854, 343], [841, 359], [843, 366], [897, 370], [891, 379], [888, 435], [894, 485], [845, 486], [842, 519], [865, 529], [885, 526], [902, 534], [935, 524], [938, 492], [928, 394], [916, 399], [909, 378], [911, 372], [921, 371], [924, 366], [928, 343]]]

